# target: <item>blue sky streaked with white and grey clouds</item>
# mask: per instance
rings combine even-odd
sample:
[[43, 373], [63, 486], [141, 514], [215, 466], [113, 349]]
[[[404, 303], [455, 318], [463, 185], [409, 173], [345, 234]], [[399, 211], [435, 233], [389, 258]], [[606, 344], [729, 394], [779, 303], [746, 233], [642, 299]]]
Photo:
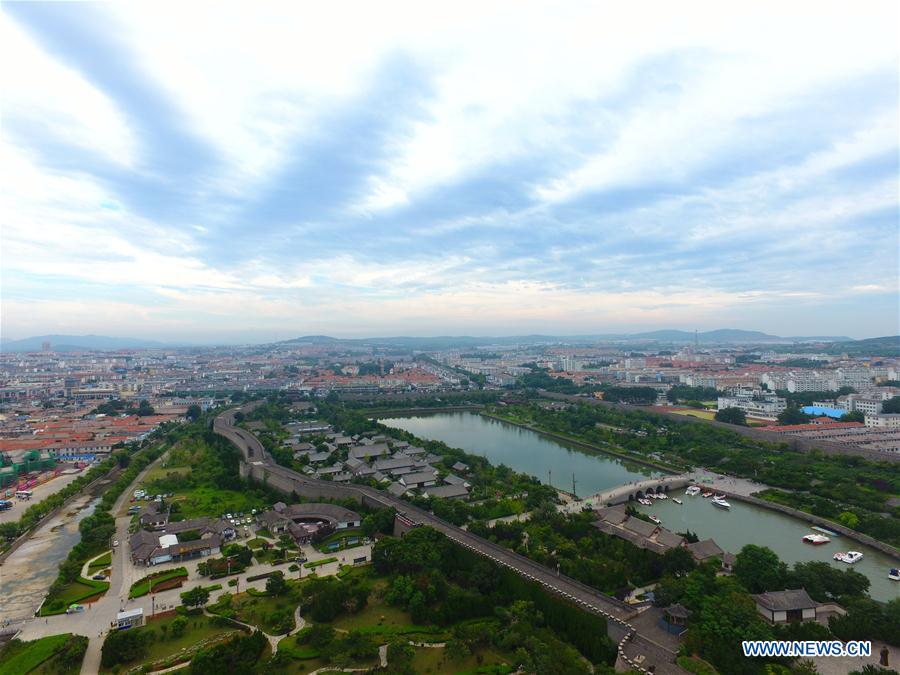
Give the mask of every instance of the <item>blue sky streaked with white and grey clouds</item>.
[[2, 333], [898, 332], [893, 0], [4, 2]]

